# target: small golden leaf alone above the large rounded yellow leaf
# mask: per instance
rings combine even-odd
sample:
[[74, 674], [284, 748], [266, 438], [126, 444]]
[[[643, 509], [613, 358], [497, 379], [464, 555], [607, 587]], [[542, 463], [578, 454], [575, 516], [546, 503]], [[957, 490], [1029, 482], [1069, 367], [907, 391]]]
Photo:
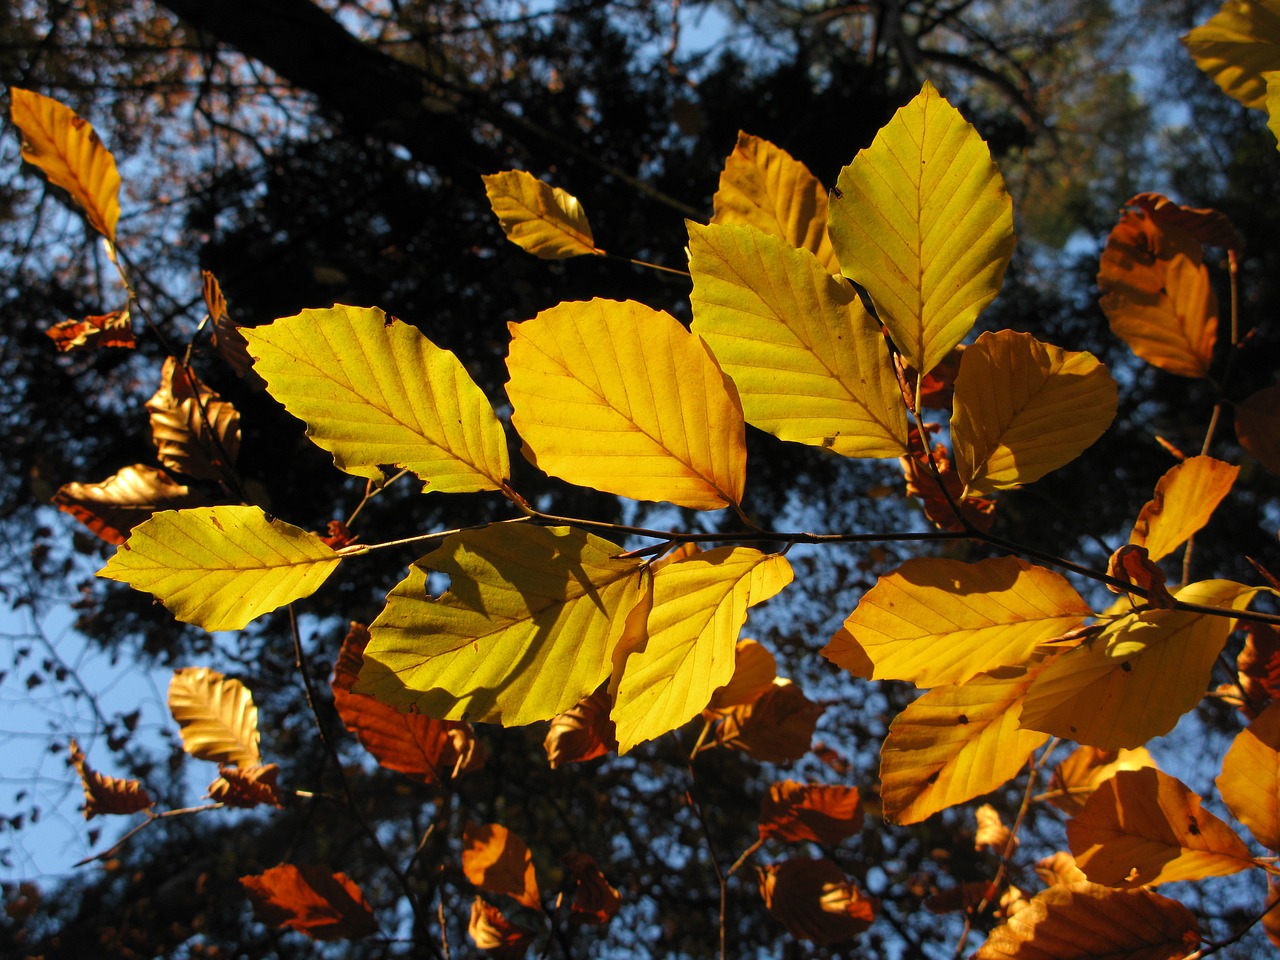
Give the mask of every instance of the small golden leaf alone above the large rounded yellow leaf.
[[577, 197], [525, 170], [483, 178], [489, 206], [507, 238], [543, 260], [603, 253]]

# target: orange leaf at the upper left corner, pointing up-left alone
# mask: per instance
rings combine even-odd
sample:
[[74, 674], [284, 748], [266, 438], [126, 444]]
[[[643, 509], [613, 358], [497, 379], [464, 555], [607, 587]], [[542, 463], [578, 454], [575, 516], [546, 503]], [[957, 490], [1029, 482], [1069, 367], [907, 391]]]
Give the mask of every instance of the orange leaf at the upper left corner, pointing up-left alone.
[[65, 189], [84, 210], [88, 225], [114, 244], [120, 173], [111, 151], [88, 122], [56, 100], [9, 87], [9, 105], [13, 123], [22, 131], [22, 159]]

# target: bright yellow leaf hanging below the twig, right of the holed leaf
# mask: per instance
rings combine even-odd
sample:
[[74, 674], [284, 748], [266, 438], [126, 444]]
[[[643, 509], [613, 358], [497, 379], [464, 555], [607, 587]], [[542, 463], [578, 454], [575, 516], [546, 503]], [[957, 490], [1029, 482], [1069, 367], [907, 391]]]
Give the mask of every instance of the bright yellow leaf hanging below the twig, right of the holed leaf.
[[611, 713], [618, 751], [659, 737], [698, 716], [733, 677], [746, 611], [791, 582], [785, 557], [721, 547], [668, 563], [653, 575], [648, 640], [618, 664]]

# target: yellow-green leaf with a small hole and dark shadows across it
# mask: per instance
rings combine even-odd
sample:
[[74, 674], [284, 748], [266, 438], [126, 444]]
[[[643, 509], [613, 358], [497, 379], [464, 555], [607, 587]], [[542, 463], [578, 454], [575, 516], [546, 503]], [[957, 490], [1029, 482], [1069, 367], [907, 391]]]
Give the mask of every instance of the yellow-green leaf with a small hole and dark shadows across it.
[[[387, 596], [357, 694], [438, 719], [550, 719], [612, 667], [641, 596], [640, 561], [571, 527], [497, 525], [445, 539]], [[452, 579], [442, 596], [429, 571]]]

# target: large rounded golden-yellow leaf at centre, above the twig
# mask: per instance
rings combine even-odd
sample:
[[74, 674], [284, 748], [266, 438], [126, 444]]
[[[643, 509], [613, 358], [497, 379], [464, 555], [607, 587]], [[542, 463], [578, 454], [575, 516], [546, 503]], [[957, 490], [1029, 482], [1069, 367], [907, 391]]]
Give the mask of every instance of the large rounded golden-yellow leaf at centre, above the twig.
[[511, 421], [539, 470], [692, 509], [741, 502], [737, 390], [671, 314], [593, 300], [509, 326]]

